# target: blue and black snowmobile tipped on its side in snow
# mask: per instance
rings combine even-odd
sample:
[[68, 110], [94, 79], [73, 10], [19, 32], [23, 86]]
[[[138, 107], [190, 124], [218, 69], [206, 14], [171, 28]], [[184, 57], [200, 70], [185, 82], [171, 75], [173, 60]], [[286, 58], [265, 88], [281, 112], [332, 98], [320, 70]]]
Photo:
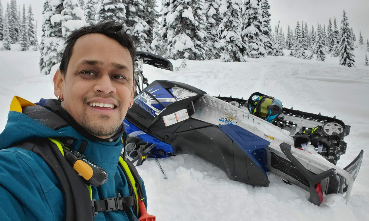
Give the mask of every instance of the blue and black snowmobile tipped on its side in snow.
[[[173, 71], [169, 60], [138, 53], [134, 105], [123, 122], [128, 134], [124, 150], [137, 166], [148, 157], [190, 154], [217, 166], [232, 180], [268, 187], [270, 172], [308, 191], [309, 201], [318, 206], [323, 193], [344, 194], [348, 202], [363, 150], [345, 168], [335, 164], [346, 151], [344, 137], [350, 126], [335, 116], [285, 108], [260, 93], [246, 100], [213, 97], [175, 81], [148, 84], [143, 64]], [[320, 133], [311, 132], [317, 129]], [[313, 139], [296, 144], [300, 135]]]

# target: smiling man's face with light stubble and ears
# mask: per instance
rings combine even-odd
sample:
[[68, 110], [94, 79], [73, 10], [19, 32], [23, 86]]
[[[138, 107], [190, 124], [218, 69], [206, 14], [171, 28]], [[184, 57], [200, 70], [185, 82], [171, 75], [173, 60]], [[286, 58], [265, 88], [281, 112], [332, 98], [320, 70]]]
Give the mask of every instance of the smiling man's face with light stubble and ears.
[[103, 34], [77, 39], [66, 76], [58, 70], [54, 94], [62, 107], [87, 131], [109, 138], [133, 104], [132, 59], [129, 51]]

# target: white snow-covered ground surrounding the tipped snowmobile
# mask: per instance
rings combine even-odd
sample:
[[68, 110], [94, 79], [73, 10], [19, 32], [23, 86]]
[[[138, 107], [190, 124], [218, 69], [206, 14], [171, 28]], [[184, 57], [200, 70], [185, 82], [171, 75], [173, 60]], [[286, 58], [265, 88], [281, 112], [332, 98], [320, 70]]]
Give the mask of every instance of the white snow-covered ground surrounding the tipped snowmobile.
[[[1, 42], [0, 42], [1, 45]], [[39, 74], [39, 52], [0, 51], [0, 131], [4, 129], [11, 99], [18, 95], [32, 102], [55, 98], [49, 76]], [[288, 55], [288, 51], [284, 51]], [[351, 125], [345, 137], [347, 152], [338, 161], [342, 168], [364, 149], [361, 171], [351, 200], [340, 194], [325, 196], [320, 207], [308, 202], [308, 193], [286, 185], [269, 174], [269, 187], [252, 187], [232, 181], [224, 172], [190, 155], [159, 159], [169, 179], [154, 159], [138, 171], [145, 180], [148, 212], [157, 220], [369, 220], [369, 67], [363, 49], [356, 49], [356, 68], [338, 65], [338, 57], [326, 62], [294, 57], [247, 59], [244, 63], [220, 60], [188, 61], [170, 72], [144, 66], [149, 81], [173, 80], [193, 85], [210, 95], [249, 97], [262, 92], [283, 105], [338, 119]], [[368, 52], [369, 53], [369, 52]], [[181, 61], [173, 61], [179, 66]]]

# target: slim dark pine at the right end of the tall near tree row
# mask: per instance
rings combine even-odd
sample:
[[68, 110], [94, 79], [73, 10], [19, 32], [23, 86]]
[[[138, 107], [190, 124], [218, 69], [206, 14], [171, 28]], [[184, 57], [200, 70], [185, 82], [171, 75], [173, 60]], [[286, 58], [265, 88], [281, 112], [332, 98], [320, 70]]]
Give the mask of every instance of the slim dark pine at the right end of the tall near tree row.
[[261, 0], [261, 16], [262, 16], [262, 34], [264, 35], [263, 43], [267, 55], [273, 55], [274, 47], [272, 43], [272, 28], [270, 27], [270, 13], [268, 0]]

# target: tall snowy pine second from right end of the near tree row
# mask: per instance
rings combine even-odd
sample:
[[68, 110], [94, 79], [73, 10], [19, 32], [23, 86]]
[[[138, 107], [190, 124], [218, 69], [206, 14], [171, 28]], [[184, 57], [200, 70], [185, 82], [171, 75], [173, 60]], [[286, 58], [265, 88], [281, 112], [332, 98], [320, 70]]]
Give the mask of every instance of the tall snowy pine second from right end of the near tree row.
[[242, 18], [242, 41], [248, 45], [249, 57], [266, 57], [262, 34], [263, 18], [258, 0], [245, 0]]

